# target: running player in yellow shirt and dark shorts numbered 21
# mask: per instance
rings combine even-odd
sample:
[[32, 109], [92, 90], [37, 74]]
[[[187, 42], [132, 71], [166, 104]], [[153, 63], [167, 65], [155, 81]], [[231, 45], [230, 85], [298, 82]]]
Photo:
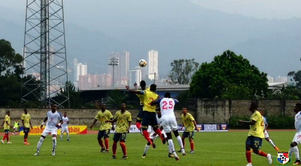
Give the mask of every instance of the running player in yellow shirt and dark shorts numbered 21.
[[248, 162], [247, 166], [252, 166], [251, 148], [253, 149], [253, 152], [255, 154], [266, 157], [268, 159], [268, 164], [272, 164], [271, 154], [266, 154], [265, 152], [259, 150], [262, 138], [264, 138], [264, 122], [262, 115], [259, 111], [257, 111], [257, 107], [258, 106], [255, 102], [250, 103], [249, 110], [253, 113], [250, 117], [250, 121], [239, 120], [239, 122], [242, 124], [250, 125], [250, 131], [246, 140], [246, 158]]

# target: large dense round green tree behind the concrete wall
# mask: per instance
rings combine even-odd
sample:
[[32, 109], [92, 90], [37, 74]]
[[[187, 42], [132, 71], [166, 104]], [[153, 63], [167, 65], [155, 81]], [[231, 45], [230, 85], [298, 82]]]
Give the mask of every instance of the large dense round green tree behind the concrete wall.
[[202, 63], [192, 77], [189, 90], [197, 98], [232, 98], [233, 90], [236, 98], [260, 98], [268, 92], [266, 76], [242, 55], [227, 50], [215, 56], [211, 63]]

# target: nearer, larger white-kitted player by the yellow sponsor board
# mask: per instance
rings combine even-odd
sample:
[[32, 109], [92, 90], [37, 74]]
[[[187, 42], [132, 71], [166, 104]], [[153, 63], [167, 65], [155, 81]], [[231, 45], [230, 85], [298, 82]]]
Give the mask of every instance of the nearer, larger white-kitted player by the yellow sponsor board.
[[[52, 135], [52, 155], [55, 155], [55, 149], [56, 149], [56, 137], [57, 137], [57, 127], [61, 126], [61, 124], [64, 123], [62, 120], [62, 116], [60, 113], [57, 112], [57, 105], [52, 104], [51, 105], [51, 111], [48, 111], [46, 114], [46, 117], [44, 121], [42, 122], [41, 129], [43, 128], [43, 125], [48, 120], [45, 129], [43, 130], [43, 133], [41, 135], [41, 138], [37, 145], [37, 152], [34, 155], [40, 154], [40, 148], [42, 146], [42, 143], [45, 139], [45, 137], [51, 133]], [[57, 123], [59, 121], [59, 123]]]

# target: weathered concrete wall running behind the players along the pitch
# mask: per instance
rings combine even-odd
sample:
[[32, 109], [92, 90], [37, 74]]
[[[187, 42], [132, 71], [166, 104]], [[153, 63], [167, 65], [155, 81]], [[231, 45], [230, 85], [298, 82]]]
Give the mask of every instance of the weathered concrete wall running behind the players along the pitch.
[[[188, 99], [186, 101], [188, 112], [197, 123], [227, 123], [231, 116], [250, 116], [249, 104], [251, 100], [219, 100], [219, 99]], [[258, 109], [268, 116], [294, 116], [293, 107], [297, 102], [293, 100], [256, 100]], [[6, 111], [11, 111], [11, 122], [15, 119], [21, 123], [20, 108], [0, 108], [0, 122], [4, 119]], [[29, 109], [32, 125], [40, 125], [49, 109]], [[72, 125], [91, 125], [99, 110], [89, 109], [59, 109], [62, 114], [68, 113]], [[117, 110], [110, 110], [114, 116]], [[128, 110], [132, 113], [132, 124], [136, 122], [138, 110]], [[175, 110], [178, 124], [181, 122], [182, 110]], [[98, 126], [99, 123], [96, 124]]]

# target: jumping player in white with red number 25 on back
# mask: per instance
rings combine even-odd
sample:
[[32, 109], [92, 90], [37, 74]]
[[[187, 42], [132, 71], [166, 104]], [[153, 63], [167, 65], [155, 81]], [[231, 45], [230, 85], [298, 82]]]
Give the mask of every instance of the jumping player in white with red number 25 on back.
[[167, 135], [169, 150], [172, 151], [172, 154], [175, 156], [175, 160], [179, 160], [180, 158], [175, 152], [171, 131], [175, 135], [178, 144], [181, 147], [182, 155], [186, 155], [182, 139], [178, 133], [178, 124], [174, 113], [174, 106], [177, 102], [178, 100], [171, 98], [169, 92], [166, 92], [164, 94], [164, 98], [160, 98], [156, 101], [151, 102], [151, 105], [160, 103], [160, 113], [162, 115], [162, 117], [160, 118], [160, 124], [163, 126], [163, 130]]

